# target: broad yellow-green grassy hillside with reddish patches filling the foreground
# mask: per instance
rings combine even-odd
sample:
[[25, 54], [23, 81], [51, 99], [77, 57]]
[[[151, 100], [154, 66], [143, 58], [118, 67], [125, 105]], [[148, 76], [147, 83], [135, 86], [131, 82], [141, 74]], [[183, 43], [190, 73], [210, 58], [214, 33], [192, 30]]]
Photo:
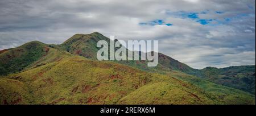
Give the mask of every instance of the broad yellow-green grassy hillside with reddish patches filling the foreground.
[[[94, 34], [96, 34], [94, 36], [97, 36], [97, 33], [94, 33]], [[76, 44], [74, 44], [73, 46], [75, 45]], [[2, 79], [0, 79], [1, 81], [0, 86], [2, 90], [1, 93], [4, 93], [6, 91], [14, 92], [15, 94], [19, 94], [19, 96], [22, 96], [22, 101], [19, 100], [19, 102], [16, 102], [16, 103], [33, 103], [33, 104], [35, 103], [71, 103], [71, 104], [73, 103], [83, 103], [83, 104], [84, 103], [85, 104], [86, 103], [89, 103], [89, 104], [90, 103], [92, 104], [97, 104], [97, 103], [100, 103], [100, 104], [102, 103], [106, 103], [106, 104], [109, 104], [109, 103], [248, 104], [249, 103], [251, 104], [252, 103], [252, 104], [255, 104], [255, 96], [251, 96], [250, 94], [241, 92], [240, 90], [226, 88], [221, 85], [213, 84], [213, 82], [209, 82], [207, 80], [203, 80], [185, 73], [176, 72], [172, 69], [166, 68], [166, 66], [162, 65], [162, 63], [160, 63], [159, 66], [156, 68], [148, 68], [148, 69], [143, 68], [145, 67], [145, 63], [141, 63], [141, 62], [137, 63], [136, 61], [133, 61], [133, 63], [129, 63], [129, 65], [148, 71], [148, 72], [167, 73], [167, 75], [165, 76], [159, 75], [157, 73], [152, 74], [152, 73], [139, 71], [138, 69], [130, 68], [123, 65], [118, 65], [114, 68], [115, 70], [122, 69], [121, 68], [122, 66], [122, 67], [128, 68], [129, 71], [133, 69], [135, 72], [138, 72], [138, 74], [136, 73], [134, 75], [134, 73], [130, 73], [130, 72], [126, 73], [127, 71], [123, 71], [123, 72], [115, 71], [112, 67], [113, 64], [115, 63], [111, 63], [108, 61], [107, 61], [108, 63], [90, 61], [79, 56], [72, 56], [70, 53], [62, 51], [61, 47], [64, 47], [64, 46], [47, 45], [46, 48], [48, 48], [47, 50], [48, 52], [43, 56], [41, 56], [39, 60], [36, 60], [34, 62], [31, 61], [30, 64], [27, 65], [27, 67], [23, 68], [24, 69], [23, 72], [11, 74], [11, 76], [7, 76], [7, 77], [2, 77]], [[82, 53], [86, 54], [88, 52], [84, 51]], [[37, 54], [34, 54], [34, 55], [36, 56]], [[90, 55], [90, 52], [89, 52], [89, 56], [92, 56], [92, 55]], [[79, 60], [79, 63], [73, 62], [73, 60], [71, 59], [73, 59], [74, 61]], [[164, 59], [164, 56], [163, 56], [163, 59]], [[169, 60], [168, 58], [165, 58], [164, 60], [166, 59]], [[69, 62], [71, 62], [71, 64], [68, 64]], [[104, 65], [102, 63], [104, 63]], [[108, 68], [106, 69], [102, 68], [102, 66], [105, 67], [105, 64], [108, 64], [111, 66], [108, 66]], [[124, 63], [124, 64], [127, 64], [127, 63]], [[88, 70], [85, 70], [84, 68], [89, 69], [89, 72], [83, 72], [83, 71], [88, 71]], [[101, 73], [102, 75], [99, 75]], [[119, 74], [122, 74], [121, 76], [125, 76], [125, 78], [119, 78]], [[154, 78], [154, 81], [146, 82], [145, 84], [143, 84], [144, 82], [143, 81], [142, 85], [137, 84], [137, 82], [141, 82], [140, 80], [143, 80], [143, 78], [144, 79], [147, 78], [147, 76], [150, 74], [153, 75], [153, 76], [150, 76], [150, 78], [152, 79]], [[109, 77], [109, 78], [105, 78], [105, 80], [101, 80], [100, 79], [101, 76]], [[138, 79], [133, 80], [133, 78], [128, 78], [126, 76], [134, 77]], [[7, 81], [5, 81], [6, 78], [14, 79], [12, 81], [18, 80], [18, 82], [10, 82], [10, 84], [7, 84]], [[97, 78], [97, 79], [95, 80], [93, 78]], [[176, 80], [176, 78], [179, 78], [179, 79]], [[188, 83], [180, 80], [187, 81]], [[115, 84], [123, 81], [130, 82], [130, 83], [129, 84], [126, 83], [126, 85], [123, 85], [122, 88], [119, 88], [119, 86], [122, 86], [122, 85]], [[81, 82], [84, 82], [84, 83], [81, 83]], [[8, 89], [8, 88], [13, 88], [11, 86], [16, 86], [16, 83], [21, 83], [22, 85], [24, 85], [24, 87], [18, 86], [19, 89], [16, 89], [16, 88], [14, 88], [13, 90]], [[102, 85], [102, 87], [100, 88], [98, 83], [103, 83], [104, 85]], [[90, 84], [90, 85], [87, 85], [87, 84]], [[143, 88], [141, 88], [142, 86]], [[164, 88], [164, 86], [166, 86], [166, 88]], [[186, 86], [188, 86], [188, 88]], [[110, 89], [112, 88], [112, 89], [109, 90], [109, 88]], [[156, 88], [159, 90], [159, 92], [153, 91], [153, 90], [151, 90], [150, 92], [149, 88]], [[171, 89], [168, 89], [168, 88], [171, 88]], [[87, 93], [88, 90], [90, 92], [88, 94], [85, 94]], [[163, 90], [162, 93], [161, 93], [161, 90]], [[74, 96], [68, 95], [70, 93], [73, 93], [72, 91], [75, 93], [77, 92], [77, 94]], [[114, 97], [109, 98], [110, 94], [108, 93], [112, 93], [112, 92], [120, 93], [121, 95], [117, 94], [117, 97], [115, 95], [112, 95]], [[175, 92], [179, 92], [180, 94], [175, 94]], [[144, 93], [143, 95], [145, 97], [151, 96], [151, 98], [148, 98], [148, 100], [143, 101], [143, 99], [139, 99], [138, 96], [135, 96], [136, 94], [142, 94], [142, 93]], [[194, 94], [196, 96], [194, 96]], [[11, 100], [16, 100], [16, 98], [14, 98], [11, 95], [12, 95], [11, 93], [4, 94], [1, 97], [1, 102], [15, 104], [15, 102], [12, 102]], [[141, 98], [145, 98], [144, 96]], [[185, 99], [183, 100], [184, 97]], [[197, 97], [199, 97], [201, 101], [198, 101], [199, 99]], [[9, 98], [9, 99], [6, 100], [6, 98]], [[110, 99], [111, 100], [109, 101], [108, 98], [109, 100]], [[117, 100], [112, 101], [113, 98]], [[150, 101], [150, 100], [153, 100], [154, 98], [156, 98], [156, 101], [154, 102]]]

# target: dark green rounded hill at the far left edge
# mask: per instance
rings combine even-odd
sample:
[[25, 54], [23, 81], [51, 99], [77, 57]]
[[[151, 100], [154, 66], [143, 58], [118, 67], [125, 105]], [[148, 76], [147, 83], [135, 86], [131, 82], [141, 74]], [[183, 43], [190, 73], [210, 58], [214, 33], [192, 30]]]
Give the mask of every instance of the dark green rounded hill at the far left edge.
[[0, 54], [0, 75], [22, 71], [48, 52], [46, 44], [30, 42]]

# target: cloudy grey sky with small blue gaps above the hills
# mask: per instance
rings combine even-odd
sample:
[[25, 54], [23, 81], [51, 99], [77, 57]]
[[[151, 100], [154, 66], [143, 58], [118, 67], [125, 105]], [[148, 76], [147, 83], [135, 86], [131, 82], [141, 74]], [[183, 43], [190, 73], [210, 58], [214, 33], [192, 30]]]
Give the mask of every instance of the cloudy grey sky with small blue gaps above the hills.
[[255, 0], [1, 0], [0, 49], [100, 32], [159, 40], [193, 68], [255, 64]]

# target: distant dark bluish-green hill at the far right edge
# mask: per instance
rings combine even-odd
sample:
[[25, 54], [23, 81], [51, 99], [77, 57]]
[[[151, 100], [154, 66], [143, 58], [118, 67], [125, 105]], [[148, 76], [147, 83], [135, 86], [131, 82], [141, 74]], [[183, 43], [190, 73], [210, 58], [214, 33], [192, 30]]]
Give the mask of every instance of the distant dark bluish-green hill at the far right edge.
[[199, 77], [255, 94], [255, 65], [201, 70]]

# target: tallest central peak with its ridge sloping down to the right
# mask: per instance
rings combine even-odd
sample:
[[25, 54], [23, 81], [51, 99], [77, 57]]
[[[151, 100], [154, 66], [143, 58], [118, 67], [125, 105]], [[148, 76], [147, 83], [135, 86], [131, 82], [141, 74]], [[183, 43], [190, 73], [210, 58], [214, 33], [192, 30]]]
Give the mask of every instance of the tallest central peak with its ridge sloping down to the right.
[[[60, 44], [59, 49], [64, 49], [74, 55], [84, 56], [88, 59], [96, 60], [96, 53], [98, 51], [96, 45], [99, 40], [105, 40], [110, 42], [111, 40], [99, 32], [93, 32], [92, 34], [75, 34], [64, 43]], [[116, 40], [118, 42], [118, 40]], [[129, 51], [127, 49], [127, 51]], [[169, 56], [159, 53], [159, 65], [158, 67], [147, 67], [147, 61], [115, 61], [117, 63], [130, 65], [142, 69], [144, 71], [154, 72], [155, 69], [165, 69], [166, 71], [177, 70], [186, 72], [188, 74], [196, 74], [196, 69], [189, 67], [186, 64], [180, 63], [179, 61], [172, 59]]]

